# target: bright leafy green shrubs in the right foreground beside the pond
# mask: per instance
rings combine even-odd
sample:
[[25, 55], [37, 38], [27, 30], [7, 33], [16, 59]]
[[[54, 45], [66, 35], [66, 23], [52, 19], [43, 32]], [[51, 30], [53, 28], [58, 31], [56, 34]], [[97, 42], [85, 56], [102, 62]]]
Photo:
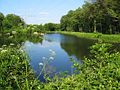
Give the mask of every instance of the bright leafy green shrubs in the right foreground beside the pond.
[[91, 47], [92, 57], [83, 65], [74, 63], [78, 75], [72, 75], [44, 85], [46, 90], [117, 90], [120, 89], [120, 53], [110, 52], [110, 44]]

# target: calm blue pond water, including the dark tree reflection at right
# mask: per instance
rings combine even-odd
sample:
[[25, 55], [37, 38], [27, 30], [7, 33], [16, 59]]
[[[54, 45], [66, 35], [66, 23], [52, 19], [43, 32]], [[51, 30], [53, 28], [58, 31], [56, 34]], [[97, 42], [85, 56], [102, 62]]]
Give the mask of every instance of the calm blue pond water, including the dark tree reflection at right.
[[[34, 69], [36, 76], [39, 75], [43, 64], [46, 63], [44, 73], [49, 74], [51, 77], [65, 71], [69, 75], [73, 74], [73, 63], [70, 58], [81, 64], [83, 57], [89, 54], [89, 46], [95, 43], [93, 40], [62, 34], [46, 34], [43, 38], [38, 43], [25, 41], [22, 46], [30, 57], [30, 65]], [[51, 51], [54, 52], [54, 56], [51, 55]], [[44, 81], [43, 74], [39, 79]]]

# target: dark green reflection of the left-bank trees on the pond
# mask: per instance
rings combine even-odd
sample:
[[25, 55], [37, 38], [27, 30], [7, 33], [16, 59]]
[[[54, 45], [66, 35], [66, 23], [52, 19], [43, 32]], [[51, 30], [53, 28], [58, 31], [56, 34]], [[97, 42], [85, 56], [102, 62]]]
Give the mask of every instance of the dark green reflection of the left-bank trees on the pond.
[[13, 43], [15, 45], [21, 45], [25, 41], [30, 41], [33, 43], [42, 43], [42, 36], [35, 36], [35, 35], [14, 35], [12, 37], [10, 36], [2, 36], [0, 37], [0, 47], [2, 45], [10, 45], [10, 43]]

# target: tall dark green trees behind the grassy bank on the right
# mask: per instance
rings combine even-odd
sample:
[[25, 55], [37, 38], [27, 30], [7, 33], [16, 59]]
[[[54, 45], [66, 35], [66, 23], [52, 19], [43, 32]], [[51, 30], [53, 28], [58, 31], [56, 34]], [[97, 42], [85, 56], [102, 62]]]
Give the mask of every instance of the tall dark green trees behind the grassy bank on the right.
[[91, 0], [61, 18], [62, 31], [120, 33], [120, 1]]

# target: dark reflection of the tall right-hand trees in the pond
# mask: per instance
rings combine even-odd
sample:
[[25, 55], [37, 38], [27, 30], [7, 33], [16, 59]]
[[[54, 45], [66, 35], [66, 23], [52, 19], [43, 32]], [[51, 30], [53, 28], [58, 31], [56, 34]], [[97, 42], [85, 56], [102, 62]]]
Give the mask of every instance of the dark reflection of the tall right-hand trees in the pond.
[[76, 56], [77, 59], [83, 59], [84, 56], [88, 56], [89, 47], [94, 43], [95, 41], [89, 39], [65, 36], [61, 40], [61, 48], [69, 56]]

